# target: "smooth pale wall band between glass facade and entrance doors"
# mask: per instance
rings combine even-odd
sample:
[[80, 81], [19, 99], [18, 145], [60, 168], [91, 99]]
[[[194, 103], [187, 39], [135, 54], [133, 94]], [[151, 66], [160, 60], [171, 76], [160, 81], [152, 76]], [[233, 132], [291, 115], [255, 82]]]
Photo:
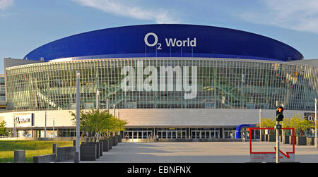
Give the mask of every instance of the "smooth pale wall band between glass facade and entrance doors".
[[[32, 128], [52, 127], [53, 120], [56, 128], [71, 128], [75, 126], [71, 111], [14, 111], [0, 113], [0, 118], [6, 121], [7, 128], [13, 128], [13, 117], [23, 114], [34, 114]], [[110, 113], [113, 114], [113, 110]], [[303, 116], [305, 112], [285, 110], [285, 118], [292, 118], [295, 114]], [[118, 116], [118, 109], [116, 110]], [[262, 118], [275, 118], [275, 110], [261, 110]], [[119, 117], [128, 121], [127, 127], [213, 127], [238, 126], [241, 124], [258, 124], [259, 110], [257, 109], [120, 109]], [[19, 126], [17, 128], [31, 128]]]

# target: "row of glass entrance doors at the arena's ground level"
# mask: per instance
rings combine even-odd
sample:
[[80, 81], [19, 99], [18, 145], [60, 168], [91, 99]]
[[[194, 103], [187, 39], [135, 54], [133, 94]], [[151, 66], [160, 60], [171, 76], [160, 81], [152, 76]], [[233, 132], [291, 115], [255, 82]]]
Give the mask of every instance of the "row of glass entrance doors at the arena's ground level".
[[[157, 133], [158, 133], [158, 138], [165, 138], [165, 139], [220, 138], [220, 130], [192, 130], [190, 133], [190, 137], [189, 137], [189, 133], [187, 133], [186, 130], [157, 130]], [[152, 130], [124, 131], [123, 138], [125, 138], [127, 134], [129, 139], [149, 139], [149, 138], [153, 138], [154, 136]], [[225, 134], [226, 134], [225, 138], [232, 138], [230, 137], [230, 133], [225, 133]]]

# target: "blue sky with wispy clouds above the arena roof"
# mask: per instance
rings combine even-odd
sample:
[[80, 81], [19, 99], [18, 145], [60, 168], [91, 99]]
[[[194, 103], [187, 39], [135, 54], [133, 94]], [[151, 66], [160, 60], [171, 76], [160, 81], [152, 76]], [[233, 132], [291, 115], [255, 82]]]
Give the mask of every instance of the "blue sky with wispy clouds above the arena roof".
[[62, 37], [153, 23], [245, 30], [318, 59], [317, 0], [0, 0], [0, 73], [4, 57], [22, 59]]

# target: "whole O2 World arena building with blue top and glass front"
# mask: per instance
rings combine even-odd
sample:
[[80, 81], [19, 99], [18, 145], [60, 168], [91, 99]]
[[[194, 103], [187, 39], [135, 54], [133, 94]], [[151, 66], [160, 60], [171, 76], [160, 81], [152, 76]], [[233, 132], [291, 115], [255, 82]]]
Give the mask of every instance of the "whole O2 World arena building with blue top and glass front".
[[[4, 59], [6, 121], [19, 136], [75, 136], [81, 109], [110, 109], [130, 138], [237, 138], [235, 130], [314, 110], [318, 61], [250, 32], [204, 25], [133, 25], [49, 42]], [[99, 96], [98, 96], [99, 93]], [[261, 111], [260, 111], [261, 110]], [[243, 129], [244, 130], [244, 129]], [[242, 132], [240, 132], [242, 133]], [[251, 135], [258, 138], [258, 134]]]

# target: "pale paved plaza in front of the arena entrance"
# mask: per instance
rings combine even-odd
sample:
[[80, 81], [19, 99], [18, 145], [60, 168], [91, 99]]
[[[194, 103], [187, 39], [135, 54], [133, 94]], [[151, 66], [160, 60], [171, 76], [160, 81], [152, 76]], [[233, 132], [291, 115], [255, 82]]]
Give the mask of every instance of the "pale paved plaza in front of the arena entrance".
[[[253, 152], [273, 151], [275, 142], [253, 142]], [[290, 151], [291, 145], [281, 145]], [[314, 146], [295, 146], [295, 161], [318, 162]], [[94, 163], [245, 163], [249, 142], [120, 142]]]

